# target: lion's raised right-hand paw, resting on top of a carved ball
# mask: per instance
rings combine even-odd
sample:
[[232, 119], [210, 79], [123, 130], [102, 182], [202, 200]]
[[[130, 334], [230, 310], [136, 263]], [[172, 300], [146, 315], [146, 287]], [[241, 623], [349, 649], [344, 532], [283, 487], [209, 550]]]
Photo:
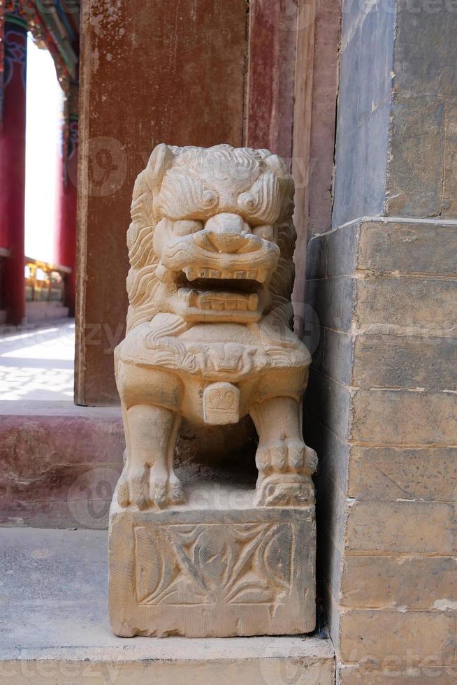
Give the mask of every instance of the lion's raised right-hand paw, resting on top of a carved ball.
[[261, 442], [256, 452], [256, 466], [261, 473], [306, 473], [317, 468], [317, 455], [300, 438]]

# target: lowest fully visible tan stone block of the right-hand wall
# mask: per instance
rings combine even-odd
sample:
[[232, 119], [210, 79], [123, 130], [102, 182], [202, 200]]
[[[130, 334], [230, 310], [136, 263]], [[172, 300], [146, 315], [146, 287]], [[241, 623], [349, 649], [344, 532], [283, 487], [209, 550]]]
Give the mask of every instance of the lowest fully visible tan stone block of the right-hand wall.
[[[454, 663], [455, 611], [345, 610], [340, 623], [340, 658], [411, 668], [424, 659]], [[379, 682], [379, 680], [378, 680]]]

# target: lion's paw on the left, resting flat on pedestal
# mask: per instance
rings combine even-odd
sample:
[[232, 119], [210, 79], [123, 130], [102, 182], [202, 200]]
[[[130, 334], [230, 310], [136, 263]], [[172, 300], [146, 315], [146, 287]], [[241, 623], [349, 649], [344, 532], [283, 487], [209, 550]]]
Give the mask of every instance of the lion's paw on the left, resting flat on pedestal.
[[140, 510], [156, 506], [166, 507], [184, 500], [184, 491], [177, 476], [156, 467], [126, 466], [117, 486], [117, 501], [124, 508], [129, 505]]

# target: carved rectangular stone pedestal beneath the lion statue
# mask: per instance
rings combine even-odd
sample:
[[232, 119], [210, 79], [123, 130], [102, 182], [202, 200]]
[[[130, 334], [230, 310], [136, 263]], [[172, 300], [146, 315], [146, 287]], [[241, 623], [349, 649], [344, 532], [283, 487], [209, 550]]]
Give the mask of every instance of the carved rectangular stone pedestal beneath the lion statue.
[[254, 491], [198, 484], [165, 510], [110, 512], [110, 619], [132, 635], [314, 630], [314, 507], [254, 507]]

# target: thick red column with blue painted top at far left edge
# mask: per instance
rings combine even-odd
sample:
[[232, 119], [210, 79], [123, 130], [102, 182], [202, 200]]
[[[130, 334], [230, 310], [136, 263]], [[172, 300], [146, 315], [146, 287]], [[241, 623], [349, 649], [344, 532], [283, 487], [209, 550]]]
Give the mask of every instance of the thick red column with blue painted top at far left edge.
[[0, 133], [0, 236], [6, 259], [3, 294], [6, 320], [20, 324], [25, 317], [24, 200], [25, 89], [27, 29], [17, 17], [6, 17], [3, 130]]

